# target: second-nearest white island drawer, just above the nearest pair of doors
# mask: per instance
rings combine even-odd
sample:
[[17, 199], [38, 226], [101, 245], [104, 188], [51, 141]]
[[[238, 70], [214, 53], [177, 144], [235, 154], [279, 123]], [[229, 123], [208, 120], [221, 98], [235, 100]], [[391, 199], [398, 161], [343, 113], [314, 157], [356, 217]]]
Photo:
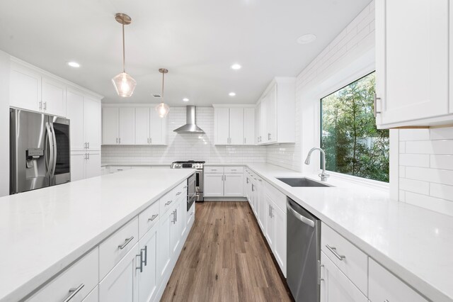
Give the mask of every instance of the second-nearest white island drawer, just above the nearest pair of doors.
[[99, 246], [99, 276], [100, 280], [115, 267], [122, 257], [138, 242], [139, 218], [135, 217], [120, 230], [107, 238]]

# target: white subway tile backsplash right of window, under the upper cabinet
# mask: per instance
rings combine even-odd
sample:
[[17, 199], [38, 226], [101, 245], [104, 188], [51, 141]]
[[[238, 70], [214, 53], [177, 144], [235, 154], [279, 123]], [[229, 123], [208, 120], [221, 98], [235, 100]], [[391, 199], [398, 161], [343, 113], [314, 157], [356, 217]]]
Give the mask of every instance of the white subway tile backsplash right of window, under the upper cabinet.
[[453, 216], [453, 128], [399, 130], [399, 201]]

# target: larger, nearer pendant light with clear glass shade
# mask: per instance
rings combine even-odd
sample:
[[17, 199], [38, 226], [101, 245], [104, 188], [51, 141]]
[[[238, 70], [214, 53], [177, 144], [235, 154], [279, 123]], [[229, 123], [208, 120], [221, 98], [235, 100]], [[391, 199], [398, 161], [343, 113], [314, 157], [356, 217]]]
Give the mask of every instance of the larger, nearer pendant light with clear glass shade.
[[134, 78], [125, 71], [125, 25], [129, 25], [132, 22], [132, 19], [125, 13], [117, 13], [115, 14], [115, 20], [122, 24], [122, 72], [113, 77], [112, 83], [113, 86], [115, 86], [118, 96], [128, 98], [132, 96], [135, 86], [137, 85]]

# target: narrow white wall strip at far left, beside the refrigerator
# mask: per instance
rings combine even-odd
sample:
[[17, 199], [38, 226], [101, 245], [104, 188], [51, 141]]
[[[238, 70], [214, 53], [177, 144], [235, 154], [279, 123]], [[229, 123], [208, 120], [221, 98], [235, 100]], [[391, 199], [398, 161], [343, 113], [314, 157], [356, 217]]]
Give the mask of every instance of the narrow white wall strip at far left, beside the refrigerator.
[[0, 196], [9, 194], [9, 65], [0, 50]]

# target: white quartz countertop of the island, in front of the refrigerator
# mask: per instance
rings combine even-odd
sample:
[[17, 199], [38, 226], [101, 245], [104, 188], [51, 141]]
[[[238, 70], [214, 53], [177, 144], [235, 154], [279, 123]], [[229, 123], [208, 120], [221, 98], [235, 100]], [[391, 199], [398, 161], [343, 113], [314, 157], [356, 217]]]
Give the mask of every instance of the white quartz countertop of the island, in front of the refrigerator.
[[0, 198], [0, 301], [18, 301], [195, 169], [135, 169]]

